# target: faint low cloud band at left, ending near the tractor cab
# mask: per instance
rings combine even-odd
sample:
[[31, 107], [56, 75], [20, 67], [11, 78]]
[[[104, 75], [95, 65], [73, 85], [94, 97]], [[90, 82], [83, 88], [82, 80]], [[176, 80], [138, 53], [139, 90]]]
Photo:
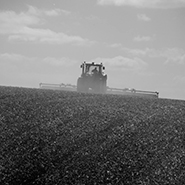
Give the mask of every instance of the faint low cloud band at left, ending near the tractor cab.
[[[0, 74], [4, 76], [0, 81], [6, 81], [7, 78], [13, 80], [13, 76], [34, 76], [38, 75], [63, 75], [77, 63], [70, 58], [54, 57], [27, 57], [15, 53], [0, 54]], [[61, 74], [61, 71], [63, 74]]]

